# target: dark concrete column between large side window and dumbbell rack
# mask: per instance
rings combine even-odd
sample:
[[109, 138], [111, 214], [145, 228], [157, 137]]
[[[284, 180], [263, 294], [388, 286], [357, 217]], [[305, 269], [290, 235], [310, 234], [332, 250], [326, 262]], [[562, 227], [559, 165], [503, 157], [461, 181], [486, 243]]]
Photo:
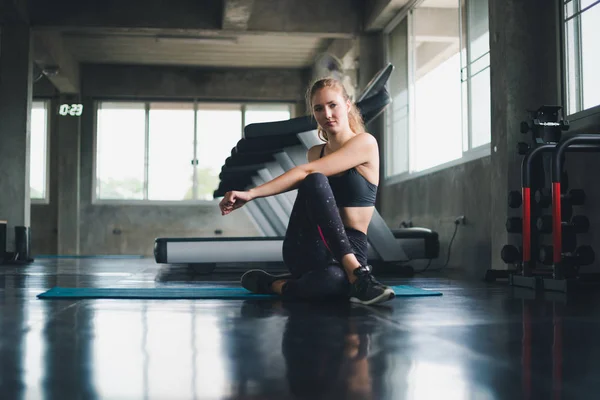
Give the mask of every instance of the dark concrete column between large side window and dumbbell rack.
[[[518, 243], [508, 234], [507, 195], [520, 188], [521, 156], [516, 146], [528, 141], [519, 124], [527, 110], [561, 104], [556, 0], [540, 7], [539, 0], [489, 0], [491, 73], [491, 238], [493, 269], [506, 269], [500, 259], [505, 244]], [[533, 16], [535, 16], [533, 18]]]

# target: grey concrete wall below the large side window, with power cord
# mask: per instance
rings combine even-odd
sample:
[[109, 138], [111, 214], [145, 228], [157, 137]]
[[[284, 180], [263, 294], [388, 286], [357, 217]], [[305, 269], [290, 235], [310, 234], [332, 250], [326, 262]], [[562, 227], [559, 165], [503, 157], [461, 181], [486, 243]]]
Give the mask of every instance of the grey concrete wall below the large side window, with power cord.
[[490, 157], [450, 167], [419, 178], [386, 186], [382, 194], [382, 216], [391, 228], [402, 222], [432, 229], [439, 234], [440, 256], [430, 269], [448, 260], [448, 245], [459, 225], [445, 268], [461, 269], [470, 277], [481, 277], [489, 268]]

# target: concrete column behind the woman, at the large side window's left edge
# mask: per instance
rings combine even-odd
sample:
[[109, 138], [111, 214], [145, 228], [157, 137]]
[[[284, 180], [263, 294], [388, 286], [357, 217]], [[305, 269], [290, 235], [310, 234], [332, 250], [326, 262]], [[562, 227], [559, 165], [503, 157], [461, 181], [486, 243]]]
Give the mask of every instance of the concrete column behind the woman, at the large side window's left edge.
[[[384, 40], [381, 34], [362, 35], [359, 38], [359, 53], [358, 53], [358, 90], [361, 93], [367, 86], [369, 81], [375, 76], [379, 70], [385, 66]], [[385, 114], [382, 113], [375, 118], [367, 126], [367, 132], [371, 133], [379, 143], [379, 179], [383, 182], [385, 176], [385, 160], [384, 160], [384, 130], [385, 130]], [[383, 185], [379, 185], [381, 189]], [[381, 195], [377, 196], [376, 207], [381, 206]]]

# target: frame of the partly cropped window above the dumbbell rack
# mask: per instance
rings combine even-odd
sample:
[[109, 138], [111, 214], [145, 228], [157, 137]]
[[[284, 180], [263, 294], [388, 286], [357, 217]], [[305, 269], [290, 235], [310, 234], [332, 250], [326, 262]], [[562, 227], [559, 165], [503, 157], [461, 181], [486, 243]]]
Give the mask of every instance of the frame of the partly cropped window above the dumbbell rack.
[[[560, 40], [560, 79], [561, 79], [561, 100], [563, 104], [563, 118], [568, 120], [571, 123], [571, 129], [569, 132], [578, 132], [578, 131], [586, 131], [589, 129], [593, 129], [596, 132], [600, 130], [600, 104], [582, 109], [576, 112], [570, 112], [569, 110], [569, 61], [568, 61], [568, 51], [567, 51], [567, 19], [565, 14], [565, 7], [570, 2], [580, 2], [581, 0], [558, 0], [559, 7], [559, 17], [560, 17], [560, 27], [559, 27], [559, 40]], [[578, 34], [576, 38], [576, 64], [578, 68], [578, 79], [577, 79], [577, 105], [578, 108], [583, 107], [583, 91], [581, 87], [583, 86], [583, 74], [582, 71], [582, 55], [583, 51], [581, 48], [581, 15], [594, 7], [600, 7], [600, 2], [595, 2], [590, 6], [586, 7], [584, 10], [579, 10], [575, 13], [575, 15], [569, 17], [569, 20], [577, 19], [578, 24]], [[583, 133], [583, 132], [581, 132]]]

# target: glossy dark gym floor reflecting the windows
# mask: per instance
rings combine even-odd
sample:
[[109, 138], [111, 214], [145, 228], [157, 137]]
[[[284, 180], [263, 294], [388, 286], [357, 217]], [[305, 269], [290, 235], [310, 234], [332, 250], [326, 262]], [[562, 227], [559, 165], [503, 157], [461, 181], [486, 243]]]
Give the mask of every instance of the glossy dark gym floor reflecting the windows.
[[[3, 399], [597, 399], [600, 301], [443, 276], [386, 307], [38, 300], [199, 282], [152, 260], [0, 267]], [[390, 282], [387, 278], [382, 280]]]

